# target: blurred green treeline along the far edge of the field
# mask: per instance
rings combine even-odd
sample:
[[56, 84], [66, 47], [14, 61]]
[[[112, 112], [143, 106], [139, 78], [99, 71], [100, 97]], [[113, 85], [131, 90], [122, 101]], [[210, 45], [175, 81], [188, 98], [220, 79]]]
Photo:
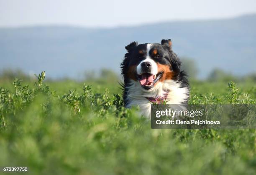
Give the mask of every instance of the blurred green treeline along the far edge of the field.
[[[187, 74], [189, 75], [190, 80], [198, 80], [197, 73], [198, 69], [193, 60], [182, 60], [182, 70], [186, 70]], [[34, 81], [36, 79], [36, 76], [28, 75], [22, 70], [12, 70], [12, 69], [5, 69], [0, 71], [0, 80], [13, 80], [15, 77], [20, 77], [24, 81]], [[69, 79], [68, 77], [61, 77], [57, 80], [66, 80]], [[92, 71], [87, 70], [84, 72], [84, 75], [82, 75], [82, 78], [78, 79], [80, 81], [95, 81], [95, 82], [117, 82], [121, 81], [122, 77], [121, 75], [118, 75], [117, 72], [114, 72], [113, 70], [103, 68], [99, 71]], [[236, 76], [233, 75], [230, 72], [225, 72], [224, 70], [221, 70], [219, 68], [215, 68], [210, 72], [210, 74], [205, 79], [209, 82], [214, 81], [222, 81], [222, 82], [241, 82], [241, 81], [251, 81], [256, 82], [256, 72], [244, 75], [244, 76]], [[48, 78], [48, 81], [52, 81], [51, 78]]]

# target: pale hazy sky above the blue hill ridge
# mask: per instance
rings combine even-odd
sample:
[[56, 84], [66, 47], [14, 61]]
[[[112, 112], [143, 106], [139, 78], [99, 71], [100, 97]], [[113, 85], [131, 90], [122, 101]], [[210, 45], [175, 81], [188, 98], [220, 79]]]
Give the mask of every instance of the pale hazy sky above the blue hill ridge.
[[256, 0], [0, 0], [0, 27], [115, 27], [256, 13]]

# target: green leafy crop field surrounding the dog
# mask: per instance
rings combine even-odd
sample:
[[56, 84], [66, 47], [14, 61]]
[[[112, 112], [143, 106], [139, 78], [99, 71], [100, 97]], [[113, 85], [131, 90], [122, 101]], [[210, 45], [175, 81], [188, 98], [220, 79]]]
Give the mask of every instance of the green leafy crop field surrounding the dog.
[[[256, 174], [256, 130], [151, 130], [118, 80], [0, 79], [0, 168], [29, 174]], [[191, 81], [189, 104], [255, 104], [255, 81]], [[0, 170], [3, 173], [3, 170]]]

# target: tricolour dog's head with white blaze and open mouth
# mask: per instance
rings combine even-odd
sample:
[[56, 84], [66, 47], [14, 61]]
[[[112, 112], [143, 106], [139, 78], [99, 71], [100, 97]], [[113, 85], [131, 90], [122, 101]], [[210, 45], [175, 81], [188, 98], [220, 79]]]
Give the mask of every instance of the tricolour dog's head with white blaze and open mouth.
[[172, 51], [172, 41], [138, 45], [132, 42], [125, 49], [121, 64], [124, 82], [137, 81], [143, 90], [152, 90], [159, 82], [175, 80], [180, 72], [181, 62]]

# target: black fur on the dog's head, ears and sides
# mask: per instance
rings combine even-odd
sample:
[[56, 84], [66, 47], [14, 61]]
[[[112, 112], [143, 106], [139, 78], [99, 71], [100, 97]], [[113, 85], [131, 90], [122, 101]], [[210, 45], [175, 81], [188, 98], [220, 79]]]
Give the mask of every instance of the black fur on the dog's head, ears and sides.
[[[121, 74], [123, 75], [124, 84], [123, 88], [123, 100], [125, 106], [127, 105], [127, 94], [128, 91], [126, 87], [130, 83], [130, 79], [128, 77], [128, 69], [132, 65], [138, 65], [139, 62], [146, 59], [146, 47], [148, 43], [138, 45], [138, 42], [131, 42], [129, 45], [125, 46], [127, 53], [125, 54], [123, 62], [120, 64], [121, 66]], [[158, 50], [158, 56], [153, 56], [154, 48]], [[139, 50], [142, 51], [139, 52]], [[173, 80], [181, 83], [181, 87], [189, 87], [189, 83], [187, 80], [187, 73], [185, 71], [180, 70], [182, 62], [179, 57], [172, 51], [172, 41], [161, 40], [161, 44], [153, 43], [152, 49], [149, 51], [149, 56], [155, 61], [159, 62], [163, 65], [169, 65], [170, 70], [174, 72]]]

